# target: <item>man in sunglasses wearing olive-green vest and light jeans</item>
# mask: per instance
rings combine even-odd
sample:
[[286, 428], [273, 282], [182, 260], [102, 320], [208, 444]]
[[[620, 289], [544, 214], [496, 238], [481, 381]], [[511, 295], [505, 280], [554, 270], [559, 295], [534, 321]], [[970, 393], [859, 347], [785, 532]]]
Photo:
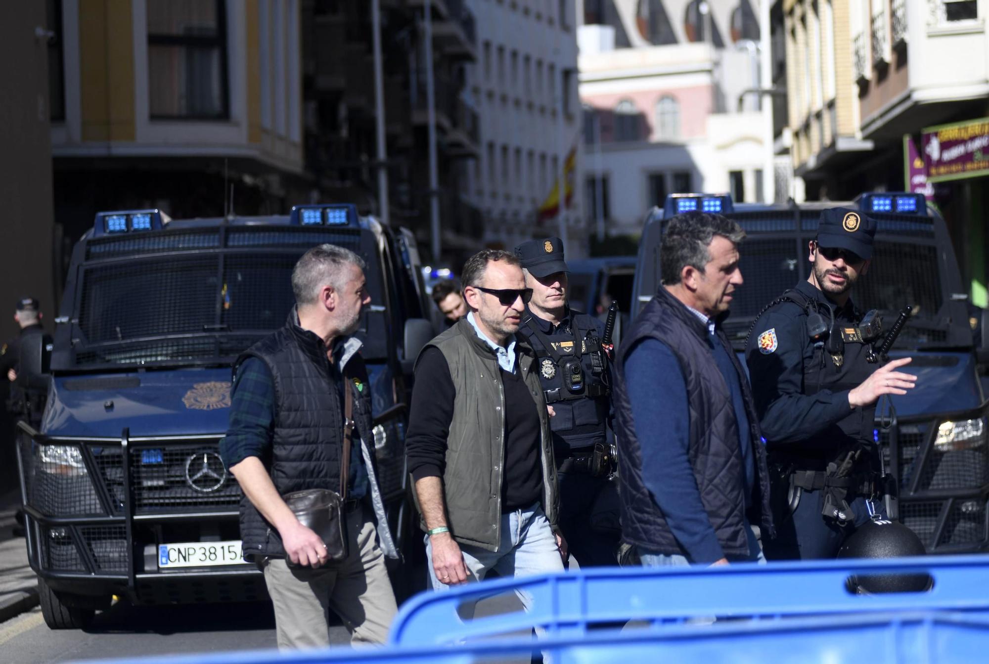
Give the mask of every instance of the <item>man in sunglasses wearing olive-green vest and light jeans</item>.
[[[563, 569], [550, 416], [518, 259], [487, 249], [461, 276], [470, 313], [415, 363], [405, 450], [432, 587]], [[530, 597], [518, 592], [524, 607]]]

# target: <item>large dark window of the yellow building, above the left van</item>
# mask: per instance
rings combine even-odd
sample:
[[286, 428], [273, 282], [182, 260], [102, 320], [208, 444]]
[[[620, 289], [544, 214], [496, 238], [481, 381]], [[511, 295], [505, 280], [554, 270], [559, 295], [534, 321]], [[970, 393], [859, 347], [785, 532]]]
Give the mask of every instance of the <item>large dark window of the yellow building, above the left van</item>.
[[224, 6], [221, 0], [147, 0], [151, 118], [228, 116]]

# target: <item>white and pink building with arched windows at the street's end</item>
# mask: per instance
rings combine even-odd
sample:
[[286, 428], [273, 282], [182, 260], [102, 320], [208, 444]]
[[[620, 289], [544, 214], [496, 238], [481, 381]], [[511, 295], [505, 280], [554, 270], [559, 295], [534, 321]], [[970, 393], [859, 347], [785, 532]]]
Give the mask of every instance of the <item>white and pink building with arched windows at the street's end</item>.
[[774, 196], [758, 2], [584, 0], [584, 210], [638, 233], [668, 194]]

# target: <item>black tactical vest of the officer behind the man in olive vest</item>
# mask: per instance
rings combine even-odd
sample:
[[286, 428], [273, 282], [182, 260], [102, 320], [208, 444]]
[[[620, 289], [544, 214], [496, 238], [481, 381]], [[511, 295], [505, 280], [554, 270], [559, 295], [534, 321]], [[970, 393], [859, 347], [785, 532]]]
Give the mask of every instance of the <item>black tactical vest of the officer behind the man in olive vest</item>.
[[[557, 332], [545, 334], [533, 316], [527, 310], [518, 331], [536, 353], [546, 403], [556, 412], [550, 418], [554, 450], [562, 456], [568, 450], [604, 443], [609, 404], [606, 368], [593, 356], [601, 346], [600, 321], [571, 311]], [[575, 367], [581, 370], [580, 389], [573, 388]]]

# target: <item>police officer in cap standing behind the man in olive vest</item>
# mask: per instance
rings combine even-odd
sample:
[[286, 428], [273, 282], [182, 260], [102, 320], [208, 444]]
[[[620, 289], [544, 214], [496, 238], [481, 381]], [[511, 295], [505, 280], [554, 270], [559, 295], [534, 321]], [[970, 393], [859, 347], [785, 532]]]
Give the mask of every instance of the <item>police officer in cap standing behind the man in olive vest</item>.
[[590, 526], [594, 502], [608, 485], [612, 456], [608, 368], [601, 350], [604, 325], [567, 303], [567, 263], [558, 237], [515, 247], [525, 285], [532, 289], [519, 334], [539, 358], [543, 393], [552, 418], [560, 484], [560, 528], [582, 567], [614, 565], [616, 534]]

